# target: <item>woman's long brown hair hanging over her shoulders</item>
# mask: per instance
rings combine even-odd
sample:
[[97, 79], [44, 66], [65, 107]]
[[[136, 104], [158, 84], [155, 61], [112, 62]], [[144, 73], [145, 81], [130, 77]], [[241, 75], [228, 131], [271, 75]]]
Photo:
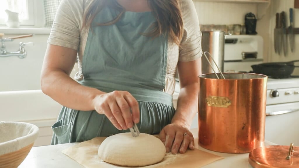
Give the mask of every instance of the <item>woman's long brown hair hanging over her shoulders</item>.
[[[184, 33], [179, 0], [148, 0], [148, 3], [157, 22], [152, 25], [152, 31], [144, 35], [155, 38], [161, 35], [165, 36], [167, 33], [170, 39], [179, 45]], [[97, 13], [106, 5], [113, 5], [120, 11], [120, 14], [112, 21], [98, 25], [115, 24], [125, 12], [125, 9], [116, 0], [91, 0], [84, 12], [83, 27], [90, 26]]]

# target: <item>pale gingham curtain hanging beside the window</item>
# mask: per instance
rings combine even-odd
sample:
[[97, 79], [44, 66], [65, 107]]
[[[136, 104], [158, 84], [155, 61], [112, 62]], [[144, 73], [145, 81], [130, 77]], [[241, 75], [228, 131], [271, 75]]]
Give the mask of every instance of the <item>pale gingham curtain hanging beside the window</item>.
[[45, 6], [45, 27], [51, 27], [61, 0], [44, 0]]

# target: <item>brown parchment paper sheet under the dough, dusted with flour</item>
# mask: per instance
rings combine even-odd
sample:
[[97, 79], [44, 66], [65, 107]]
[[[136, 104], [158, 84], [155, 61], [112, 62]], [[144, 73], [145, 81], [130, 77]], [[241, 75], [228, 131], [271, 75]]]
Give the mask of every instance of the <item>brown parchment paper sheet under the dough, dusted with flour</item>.
[[[97, 150], [105, 138], [97, 137], [75, 144], [64, 149], [62, 153], [77, 161], [85, 168], [123, 168], [122, 166], [106, 163], [97, 155]], [[194, 149], [187, 150], [185, 154], [173, 155], [168, 153], [160, 163], [143, 168], [199, 168], [219, 159], [222, 159], [222, 157]]]

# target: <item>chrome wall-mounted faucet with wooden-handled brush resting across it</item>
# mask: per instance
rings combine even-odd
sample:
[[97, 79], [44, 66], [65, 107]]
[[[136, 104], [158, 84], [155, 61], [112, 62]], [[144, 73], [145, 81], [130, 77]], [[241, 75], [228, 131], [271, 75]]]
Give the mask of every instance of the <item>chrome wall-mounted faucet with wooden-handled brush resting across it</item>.
[[18, 39], [18, 38], [24, 38], [24, 37], [30, 37], [32, 36], [32, 34], [30, 35], [24, 35], [24, 36], [17, 36], [17, 37], [11, 37], [11, 38], [2, 38], [3, 34], [0, 34], [0, 42], [1, 42], [1, 47], [0, 47], [0, 57], [8, 57], [8, 56], [18, 56], [19, 58], [25, 58], [27, 56], [27, 52], [25, 51], [24, 46], [25, 45], [29, 45], [29, 44], [33, 44], [33, 42], [20, 42], [19, 43], [19, 50], [15, 51], [15, 52], [8, 52], [6, 51], [6, 47], [4, 42], [12, 42], [13, 39]]

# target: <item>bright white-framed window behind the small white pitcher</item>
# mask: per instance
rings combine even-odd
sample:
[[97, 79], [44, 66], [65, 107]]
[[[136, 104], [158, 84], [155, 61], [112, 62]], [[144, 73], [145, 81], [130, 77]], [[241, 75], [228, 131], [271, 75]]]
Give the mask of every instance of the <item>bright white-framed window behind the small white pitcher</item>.
[[33, 0], [0, 0], [0, 4], [0, 25], [5, 25], [6, 9], [19, 13], [21, 25], [34, 25]]

